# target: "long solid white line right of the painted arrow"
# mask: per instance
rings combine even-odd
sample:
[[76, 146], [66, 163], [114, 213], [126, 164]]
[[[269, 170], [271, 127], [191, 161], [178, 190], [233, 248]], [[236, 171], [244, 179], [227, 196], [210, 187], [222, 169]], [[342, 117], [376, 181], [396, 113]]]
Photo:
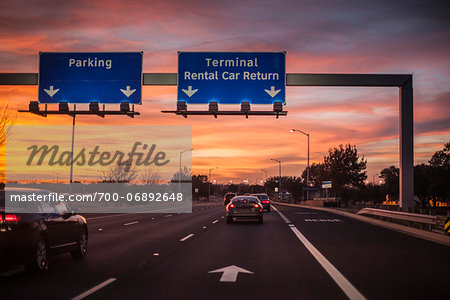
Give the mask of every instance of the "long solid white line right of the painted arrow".
[[[273, 206], [272, 206], [273, 207]], [[280, 215], [280, 217], [286, 222], [291, 223], [286, 216], [277, 210], [274, 207], [274, 210]], [[314, 258], [319, 262], [319, 264], [322, 266], [322, 268], [327, 271], [328, 275], [331, 276], [331, 278], [336, 282], [336, 284], [341, 288], [341, 290], [347, 295], [347, 297], [351, 300], [354, 299], [366, 299], [351, 283], [350, 281], [345, 278], [344, 275], [342, 275], [341, 272], [336, 269], [335, 266], [333, 266], [328, 259], [325, 258], [325, 256], [322, 255], [322, 253], [319, 252], [319, 250], [316, 249], [316, 247], [311, 244], [310, 241], [297, 229], [295, 226], [289, 226], [291, 230], [294, 232], [294, 234], [297, 236], [297, 238], [302, 242], [302, 244], [308, 249], [308, 251], [314, 256]]]

